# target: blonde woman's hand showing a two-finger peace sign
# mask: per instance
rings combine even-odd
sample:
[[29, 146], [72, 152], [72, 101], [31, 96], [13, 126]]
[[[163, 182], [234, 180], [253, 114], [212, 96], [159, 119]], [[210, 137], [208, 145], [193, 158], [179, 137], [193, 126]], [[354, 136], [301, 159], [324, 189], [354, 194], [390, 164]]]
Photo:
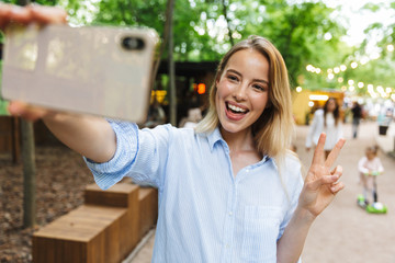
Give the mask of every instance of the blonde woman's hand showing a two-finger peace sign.
[[335, 195], [345, 187], [338, 182], [342, 175], [342, 168], [336, 167], [330, 171], [346, 140], [340, 139], [325, 160], [324, 145], [326, 135], [319, 136], [318, 145], [314, 151], [312, 165], [307, 172], [305, 183], [300, 196], [298, 206], [317, 217], [335, 198]]

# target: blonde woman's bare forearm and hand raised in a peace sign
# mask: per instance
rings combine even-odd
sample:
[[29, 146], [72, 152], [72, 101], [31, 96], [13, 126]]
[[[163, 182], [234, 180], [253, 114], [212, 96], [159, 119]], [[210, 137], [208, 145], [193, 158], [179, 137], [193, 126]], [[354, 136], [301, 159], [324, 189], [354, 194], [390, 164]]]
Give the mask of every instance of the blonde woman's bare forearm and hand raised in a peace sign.
[[315, 149], [312, 165], [298, 199], [298, 205], [278, 242], [278, 262], [297, 262], [315, 218], [331, 203], [345, 185], [339, 182], [342, 168], [330, 171], [345, 140], [340, 139], [325, 160], [324, 145], [326, 135], [321, 134]]

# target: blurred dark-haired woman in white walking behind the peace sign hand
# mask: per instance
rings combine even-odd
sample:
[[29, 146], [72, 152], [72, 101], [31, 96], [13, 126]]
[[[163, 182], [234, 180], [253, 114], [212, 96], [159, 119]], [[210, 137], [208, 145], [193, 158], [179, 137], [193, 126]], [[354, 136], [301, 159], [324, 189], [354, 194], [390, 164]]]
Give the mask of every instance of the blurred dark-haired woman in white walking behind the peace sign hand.
[[327, 139], [324, 146], [325, 156], [327, 157], [336, 142], [342, 137], [342, 126], [340, 119], [339, 104], [335, 98], [329, 98], [324, 108], [319, 108], [314, 113], [312, 125], [306, 137], [306, 150], [312, 145], [316, 146], [319, 135], [326, 133]]

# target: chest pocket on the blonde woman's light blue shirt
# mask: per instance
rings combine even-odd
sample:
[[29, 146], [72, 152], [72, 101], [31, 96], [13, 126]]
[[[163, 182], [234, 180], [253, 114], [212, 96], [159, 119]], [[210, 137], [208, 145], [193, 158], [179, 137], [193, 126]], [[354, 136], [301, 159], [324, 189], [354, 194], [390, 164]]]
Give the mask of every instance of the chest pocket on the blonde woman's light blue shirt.
[[276, 239], [282, 211], [279, 207], [246, 206], [241, 258], [247, 262], [276, 262]]

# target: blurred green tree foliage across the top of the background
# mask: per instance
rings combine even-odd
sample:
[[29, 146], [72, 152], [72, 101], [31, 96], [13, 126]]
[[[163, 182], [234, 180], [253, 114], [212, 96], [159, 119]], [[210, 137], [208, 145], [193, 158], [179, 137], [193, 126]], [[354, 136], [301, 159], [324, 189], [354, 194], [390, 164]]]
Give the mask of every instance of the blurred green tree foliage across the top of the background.
[[[16, 1], [5, 0], [5, 2]], [[148, 26], [163, 36], [167, 0], [37, 0], [36, 2], [63, 7], [67, 10], [71, 24]], [[323, 2], [292, 2], [296, 1], [176, 1], [174, 59], [218, 60], [230, 47], [232, 41], [238, 42], [252, 34], [261, 35], [273, 42], [283, 55], [293, 87], [339, 89], [341, 83], [327, 80], [326, 69], [360, 58], [363, 56], [366, 43], [360, 47], [349, 47], [342, 43], [340, 39], [346, 34], [346, 28], [332, 19], [335, 10]], [[391, 4], [395, 9], [395, 1]], [[368, 3], [363, 10], [376, 12], [381, 8], [383, 8], [381, 4]], [[383, 43], [392, 43], [395, 39], [395, 24], [392, 27], [372, 24], [365, 32], [366, 41], [375, 37], [373, 33], [376, 32], [385, 32]], [[166, 57], [165, 52], [163, 58]], [[323, 72], [320, 75], [307, 72], [307, 65], [319, 67]], [[370, 72], [362, 71], [361, 67], [361, 71], [347, 70], [339, 76], [345, 79], [368, 79], [368, 76], [371, 76], [369, 77], [371, 81], [374, 76], [387, 79], [382, 72], [375, 73], [375, 70], [384, 70], [385, 67], [388, 69], [390, 66], [385, 65], [387, 65], [386, 60], [375, 65], [377, 68], [370, 66]], [[363, 78], [356, 76], [357, 73], [363, 75]]]

